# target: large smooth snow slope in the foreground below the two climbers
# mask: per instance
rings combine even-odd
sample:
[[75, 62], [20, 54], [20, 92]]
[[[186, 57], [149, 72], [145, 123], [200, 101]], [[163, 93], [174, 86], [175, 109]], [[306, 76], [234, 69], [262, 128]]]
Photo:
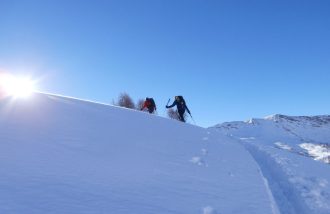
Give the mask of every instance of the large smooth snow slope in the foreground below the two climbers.
[[261, 169], [212, 129], [55, 95], [0, 101], [0, 213], [278, 213]]

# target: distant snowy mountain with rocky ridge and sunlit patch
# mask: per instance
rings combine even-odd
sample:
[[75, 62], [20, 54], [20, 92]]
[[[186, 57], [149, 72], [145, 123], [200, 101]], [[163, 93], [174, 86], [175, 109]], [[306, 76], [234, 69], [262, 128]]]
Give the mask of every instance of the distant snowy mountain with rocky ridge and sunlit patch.
[[226, 122], [215, 128], [243, 140], [258, 139], [264, 144], [310, 156], [330, 163], [330, 115], [271, 115], [245, 122]]

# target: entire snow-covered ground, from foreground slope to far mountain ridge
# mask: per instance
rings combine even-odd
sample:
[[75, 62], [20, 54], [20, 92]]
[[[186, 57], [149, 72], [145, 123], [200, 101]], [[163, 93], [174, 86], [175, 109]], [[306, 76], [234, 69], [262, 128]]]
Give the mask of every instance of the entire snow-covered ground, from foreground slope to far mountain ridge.
[[49, 94], [0, 100], [0, 213], [329, 214], [330, 116], [200, 128]]

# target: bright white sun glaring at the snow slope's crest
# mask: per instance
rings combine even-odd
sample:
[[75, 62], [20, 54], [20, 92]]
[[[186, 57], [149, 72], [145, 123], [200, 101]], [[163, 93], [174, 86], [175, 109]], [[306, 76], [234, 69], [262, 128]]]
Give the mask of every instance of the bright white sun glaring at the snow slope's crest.
[[35, 82], [29, 77], [4, 75], [0, 81], [2, 91], [6, 96], [27, 98], [35, 91]]

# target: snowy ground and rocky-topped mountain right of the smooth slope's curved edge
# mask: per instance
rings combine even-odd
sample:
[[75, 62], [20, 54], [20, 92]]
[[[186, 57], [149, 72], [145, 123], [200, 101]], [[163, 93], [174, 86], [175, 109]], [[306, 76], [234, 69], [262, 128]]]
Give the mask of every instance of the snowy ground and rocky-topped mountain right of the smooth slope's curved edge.
[[246, 147], [281, 213], [330, 213], [330, 116], [273, 115], [210, 130]]

